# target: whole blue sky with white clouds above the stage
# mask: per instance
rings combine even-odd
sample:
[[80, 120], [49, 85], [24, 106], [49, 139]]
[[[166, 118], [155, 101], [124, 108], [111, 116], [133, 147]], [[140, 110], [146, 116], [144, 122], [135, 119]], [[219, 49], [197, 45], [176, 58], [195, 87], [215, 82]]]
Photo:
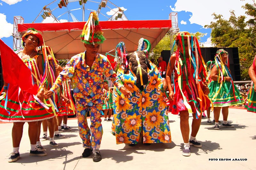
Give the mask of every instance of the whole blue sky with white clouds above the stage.
[[[70, 0], [74, 1], [74, 0]], [[101, 2], [101, 0], [94, 0]], [[32, 23], [36, 16], [40, 13], [42, 8], [53, 2], [53, 0], [0, 0], [0, 38], [12, 48], [13, 38], [13, 17], [22, 16], [25, 23]], [[210, 24], [213, 20], [212, 13], [223, 15], [226, 19], [229, 18], [229, 11], [234, 10], [236, 16], [245, 15], [244, 9], [241, 8], [245, 3], [253, 3], [253, 0], [111, 0], [111, 3], [124, 9], [124, 14], [128, 20], [158, 20], [169, 19], [171, 12], [178, 12], [178, 24], [181, 31], [188, 31], [195, 33], [197, 31], [206, 33], [201, 42], [204, 46], [211, 46], [210, 34], [211, 29], [205, 29], [204, 25]], [[107, 3], [108, 7], [115, 9], [116, 6], [110, 2]], [[59, 0], [49, 5], [48, 7], [53, 10], [58, 6]], [[91, 10], [98, 9], [97, 3], [87, 2], [85, 8]], [[68, 4], [69, 10], [81, 8], [78, 2], [70, 2]], [[108, 15], [111, 11], [109, 8], [102, 8], [99, 15], [100, 20], [108, 20], [112, 15]], [[60, 16], [67, 11], [67, 8], [57, 8], [52, 13], [55, 17]], [[82, 21], [82, 10], [74, 10], [71, 13]], [[88, 19], [90, 11], [85, 12], [85, 19]], [[111, 13], [111, 12], [110, 12]], [[42, 13], [41, 13], [42, 15]], [[42, 21], [39, 16], [36, 23]], [[58, 18], [61, 22], [68, 20], [68, 14], [64, 14]], [[70, 21], [72, 21], [70, 19]]]

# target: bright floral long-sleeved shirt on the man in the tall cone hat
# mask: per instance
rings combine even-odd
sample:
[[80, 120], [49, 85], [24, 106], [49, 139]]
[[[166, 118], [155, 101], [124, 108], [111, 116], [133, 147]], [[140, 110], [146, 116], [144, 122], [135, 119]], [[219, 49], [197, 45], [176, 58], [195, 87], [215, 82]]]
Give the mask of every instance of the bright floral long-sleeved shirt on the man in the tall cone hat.
[[86, 100], [87, 103], [92, 101], [102, 103], [104, 74], [106, 77], [111, 78], [111, 81], [118, 89], [123, 87], [123, 85], [117, 78], [106, 56], [98, 53], [90, 69], [85, 63], [85, 53], [86, 51], [70, 59], [50, 90], [53, 92], [57, 91], [62, 81], [72, 77], [75, 98], [88, 99]]

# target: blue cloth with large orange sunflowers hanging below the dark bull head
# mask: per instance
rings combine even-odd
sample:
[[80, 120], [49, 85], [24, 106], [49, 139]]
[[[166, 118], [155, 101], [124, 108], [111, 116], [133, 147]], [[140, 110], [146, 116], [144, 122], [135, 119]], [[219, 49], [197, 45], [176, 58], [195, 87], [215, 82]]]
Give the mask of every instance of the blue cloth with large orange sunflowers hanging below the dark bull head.
[[132, 92], [132, 97], [127, 99], [115, 88], [112, 129], [115, 129], [117, 144], [137, 144], [141, 131], [143, 143], [171, 142], [162, 77], [157, 67], [151, 62], [150, 65], [148, 84], [143, 91], [136, 86], [137, 78], [131, 70], [124, 74], [122, 66], [117, 72], [124, 87]]

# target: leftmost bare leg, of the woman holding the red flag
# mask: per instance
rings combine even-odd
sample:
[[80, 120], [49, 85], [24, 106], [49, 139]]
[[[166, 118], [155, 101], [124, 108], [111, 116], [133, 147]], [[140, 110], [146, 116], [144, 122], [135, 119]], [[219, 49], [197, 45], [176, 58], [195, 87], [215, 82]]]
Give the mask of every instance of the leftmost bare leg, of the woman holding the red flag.
[[12, 146], [13, 148], [20, 146], [20, 141], [23, 134], [23, 125], [25, 122], [13, 122], [12, 127]]

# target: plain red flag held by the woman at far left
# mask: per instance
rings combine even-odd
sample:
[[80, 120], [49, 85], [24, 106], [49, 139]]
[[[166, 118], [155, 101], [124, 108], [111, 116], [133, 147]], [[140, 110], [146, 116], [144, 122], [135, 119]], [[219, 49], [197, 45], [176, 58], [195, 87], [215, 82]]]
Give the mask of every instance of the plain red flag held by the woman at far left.
[[20, 57], [0, 39], [0, 55], [4, 82], [18, 85], [21, 90], [37, 94], [37, 85], [33, 85], [30, 69]]

